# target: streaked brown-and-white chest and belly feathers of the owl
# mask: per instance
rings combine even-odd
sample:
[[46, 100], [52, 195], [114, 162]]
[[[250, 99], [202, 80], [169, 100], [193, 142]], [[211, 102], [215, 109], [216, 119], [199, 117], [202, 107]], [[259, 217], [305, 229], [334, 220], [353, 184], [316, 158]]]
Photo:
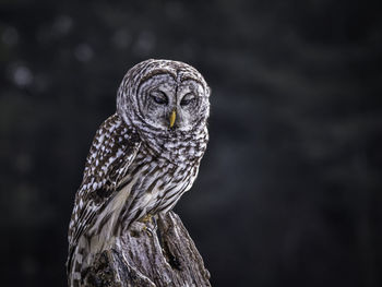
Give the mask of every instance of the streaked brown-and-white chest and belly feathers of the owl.
[[[182, 136], [164, 140], [160, 153], [152, 147], [151, 139], [146, 139], [146, 144], [141, 146], [119, 187], [120, 192], [129, 193], [122, 208], [128, 211], [129, 216], [121, 214], [122, 224], [148, 213], [171, 210], [192, 187], [206, 147], [207, 133], [205, 130], [198, 135]], [[160, 143], [158, 137], [155, 143]]]

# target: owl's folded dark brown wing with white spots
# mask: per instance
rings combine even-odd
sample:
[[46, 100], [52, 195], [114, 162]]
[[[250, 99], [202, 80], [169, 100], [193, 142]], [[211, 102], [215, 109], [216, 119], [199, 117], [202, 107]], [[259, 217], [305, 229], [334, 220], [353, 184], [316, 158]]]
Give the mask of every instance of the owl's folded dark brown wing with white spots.
[[82, 184], [69, 226], [68, 270], [72, 254], [99, 210], [115, 195], [116, 188], [140, 148], [140, 139], [117, 113], [98, 129], [86, 158]]

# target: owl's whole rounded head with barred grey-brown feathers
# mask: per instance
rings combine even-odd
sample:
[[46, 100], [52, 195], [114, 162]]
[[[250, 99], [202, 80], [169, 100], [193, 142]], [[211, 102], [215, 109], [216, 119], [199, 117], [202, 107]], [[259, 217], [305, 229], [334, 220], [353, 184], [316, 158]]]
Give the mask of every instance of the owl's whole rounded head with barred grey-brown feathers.
[[191, 65], [146, 60], [129, 70], [117, 98], [117, 112], [139, 129], [163, 133], [204, 129], [210, 87]]

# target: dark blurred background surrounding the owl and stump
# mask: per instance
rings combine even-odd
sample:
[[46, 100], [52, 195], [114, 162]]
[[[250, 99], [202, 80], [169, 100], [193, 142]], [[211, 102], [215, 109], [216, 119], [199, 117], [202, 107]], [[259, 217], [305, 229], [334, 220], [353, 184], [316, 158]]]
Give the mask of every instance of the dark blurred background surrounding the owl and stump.
[[65, 286], [93, 135], [166, 58], [213, 91], [176, 206], [213, 286], [381, 286], [381, 24], [367, 1], [1, 1], [0, 285]]

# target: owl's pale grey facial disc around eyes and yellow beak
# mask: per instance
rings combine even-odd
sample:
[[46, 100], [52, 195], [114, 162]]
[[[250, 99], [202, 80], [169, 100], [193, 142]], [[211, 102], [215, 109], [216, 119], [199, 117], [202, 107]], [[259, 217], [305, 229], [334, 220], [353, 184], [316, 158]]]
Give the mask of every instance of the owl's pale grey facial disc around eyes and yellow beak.
[[178, 83], [170, 74], [157, 74], [141, 83], [139, 113], [155, 129], [190, 131], [203, 117], [204, 89], [193, 80]]

